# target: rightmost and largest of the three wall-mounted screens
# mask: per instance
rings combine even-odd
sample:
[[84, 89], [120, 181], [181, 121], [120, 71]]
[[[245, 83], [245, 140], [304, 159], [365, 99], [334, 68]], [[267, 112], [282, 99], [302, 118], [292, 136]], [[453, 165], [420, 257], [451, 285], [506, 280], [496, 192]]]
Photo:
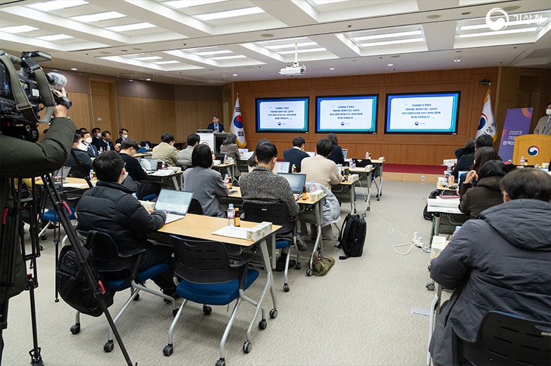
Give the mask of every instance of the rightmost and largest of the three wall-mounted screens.
[[385, 133], [457, 133], [461, 92], [387, 94]]

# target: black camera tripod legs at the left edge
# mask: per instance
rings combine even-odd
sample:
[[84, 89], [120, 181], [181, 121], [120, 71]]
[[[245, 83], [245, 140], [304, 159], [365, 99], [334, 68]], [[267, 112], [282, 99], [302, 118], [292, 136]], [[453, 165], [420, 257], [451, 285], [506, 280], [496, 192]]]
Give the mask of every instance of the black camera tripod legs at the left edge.
[[[77, 164], [78, 160], [74, 156], [74, 152], [72, 152], [74, 159], [76, 160]], [[82, 168], [79, 164], [79, 167]], [[81, 169], [82, 171], [83, 169]], [[86, 177], [86, 175], [85, 175]], [[118, 334], [118, 330], [116, 329], [116, 325], [112, 319], [112, 316], [107, 309], [107, 305], [105, 305], [105, 299], [103, 297], [103, 291], [101, 290], [100, 284], [96, 282], [96, 279], [94, 278], [94, 274], [92, 272], [92, 268], [90, 268], [90, 263], [85, 260], [85, 257], [83, 255], [81, 244], [79, 243], [79, 239], [76, 234], [76, 230], [72, 226], [70, 219], [67, 215], [67, 211], [69, 207], [67, 204], [61, 200], [61, 197], [59, 196], [59, 192], [56, 190], [54, 179], [50, 174], [46, 174], [42, 176], [42, 182], [43, 182], [43, 188], [45, 189], [45, 192], [48, 194], [48, 198], [52, 202], [54, 206], [54, 210], [56, 211], [56, 214], [59, 217], [59, 222], [63, 226], [65, 233], [67, 235], [67, 239], [70, 242], [70, 245], [72, 246], [72, 250], [74, 250], [77, 259], [79, 260], [79, 263], [81, 265], [82, 270], [85, 272], [85, 276], [87, 278], [88, 283], [90, 283], [90, 286], [94, 289], [94, 296], [98, 300], [98, 303], [101, 305], [101, 308], [105, 314], [105, 317], [107, 318], [107, 322], [109, 323], [111, 329], [113, 330], [113, 334], [116, 338], [116, 341], [121, 347], [121, 352], [123, 353], [123, 356], [126, 360], [127, 365], [132, 366], [132, 361], [129, 358], [129, 355], [126, 351], [125, 346], [123, 345], [123, 341], [121, 339], [121, 336]], [[90, 186], [90, 180], [87, 179], [87, 182]], [[31, 261], [31, 268], [33, 269], [32, 274], [28, 274], [28, 287], [26, 290], [29, 290], [30, 295], [30, 310], [31, 310], [31, 325], [32, 325], [32, 339], [33, 339], [33, 348], [30, 350], [29, 354], [31, 356], [31, 364], [41, 366], [43, 365], [43, 360], [41, 357], [41, 347], [38, 345], [38, 334], [37, 334], [37, 314], [36, 314], [36, 306], [34, 301], [34, 288], [38, 287], [38, 281], [37, 281], [37, 257], [40, 256], [39, 251], [39, 245], [38, 245], [38, 212], [37, 212], [37, 198], [33, 196], [32, 204], [30, 205], [30, 237], [31, 237], [31, 251], [30, 254], [25, 254], [25, 241], [23, 236], [23, 222], [21, 219], [21, 193], [22, 193], [22, 180], [19, 180], [17, 184], [17, 189], [15, 188], [15, 180], [14, 178], [10, 178], [10, 186], [12, 190], [12, 197], [14, 197], [14, 205], [10, 208], [3, 208], [3, 215], [2, 215], [2, 222], [1, 224], [4, 226], [4, 230], [2, 231], [2, 237], [0, 238], [0, 253], [7, 253], [8, 261], [6, 262], [7, 265], [7, 277], [6, 281], [3, 281], [1, 283], [2, 288], [1, 291], [5, 294], [5, 301], [3, 304], [1, 304], [0, 308], [0, 337], [2, 336], [2, 332], [6, 327], [8, 327], [8, 289], [12, 286], [14, 286], [15, 283], [15, 263], [16, 263], [16, 256], [19, 255], [17, 253], [17, 240], [19, 237], [19, 241], [21, 243], [21, 252], [23, 255], [24, 261]], [[35, 191], [35, 183], [34, 179], [32, 179], [32, 192]], [[7, 228], [6, 224], [8, 223], [8, 219], [11, 222], [10, 230], [5, 230]], [[8, 232], [9, 231], [9, 232]], [[0, 273], [3, 273], [4, 268], [2, 268], [5, 264], [4, 261], [0, 261]], [[23, 263], [25, 265], [25, 263]], [[3, 345], [2, 345], [3, 348]], [[1, 354], [0, 354], [0, 363], [1, 363]], [[137, 365], [137, 363], [136, 363]]]

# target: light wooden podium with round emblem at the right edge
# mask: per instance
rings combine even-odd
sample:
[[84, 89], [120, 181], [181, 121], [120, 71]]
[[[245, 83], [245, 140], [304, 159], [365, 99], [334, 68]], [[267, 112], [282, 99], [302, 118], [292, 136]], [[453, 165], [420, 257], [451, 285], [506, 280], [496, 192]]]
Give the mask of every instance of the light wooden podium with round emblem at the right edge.
[[521, 156], [528, 159], [528, 165], [543, 164], [551, 160], [551, 136], [522, 135], [514, 140], [512, 163], [519, 165]]

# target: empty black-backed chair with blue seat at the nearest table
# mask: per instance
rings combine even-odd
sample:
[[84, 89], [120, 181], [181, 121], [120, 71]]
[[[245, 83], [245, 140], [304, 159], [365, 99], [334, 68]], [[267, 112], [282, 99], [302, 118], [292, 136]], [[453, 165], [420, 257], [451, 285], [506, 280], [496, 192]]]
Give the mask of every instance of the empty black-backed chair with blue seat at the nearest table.
[[[241, 301], [244, 300], [254, 305], [256, 310], [247, 329], [247, 341], [242, 348], [245, 353], [251, 352], [251, 328], [260, 304], [245, 296], [245, 290], [258, 278], [258, 270], [249, 268], [249, 259], [230, 263], [226, 247], [219, 241], [171, 237], [176, 257], [174, 266], [174, 281], [178, 283], [176, 292], [184, 301], [169, 327], [168, 344], [163, 348], [163, 354], [170, 356], [174, 352], [172, 333], [187, 301], [199, 304], [229, 305], [237, 300], [220, 341], [220, 359], [216, 361], [216, 366], [226, 365], [225, 343]], [[211, 308], [203, 305], [203, 312], [210, 314]], [[267, 327], [264, 309], [262, 309], [262, 320], [258, 323], [258, 327], [261, 330]]]

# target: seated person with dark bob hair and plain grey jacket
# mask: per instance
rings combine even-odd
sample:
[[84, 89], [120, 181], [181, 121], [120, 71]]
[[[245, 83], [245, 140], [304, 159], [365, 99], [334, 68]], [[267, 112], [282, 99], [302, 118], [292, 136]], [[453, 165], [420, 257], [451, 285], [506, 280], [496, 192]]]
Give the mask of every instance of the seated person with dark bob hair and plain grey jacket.
[[218, 171], [211, 169], [212, 154], [208, 145], [200, 144], [191, 153], [191, 169], [184, 171], [184, 191], [193, 192], [203, 215], [226, 217], [218, 197], [227, 197], [228, 187]]

